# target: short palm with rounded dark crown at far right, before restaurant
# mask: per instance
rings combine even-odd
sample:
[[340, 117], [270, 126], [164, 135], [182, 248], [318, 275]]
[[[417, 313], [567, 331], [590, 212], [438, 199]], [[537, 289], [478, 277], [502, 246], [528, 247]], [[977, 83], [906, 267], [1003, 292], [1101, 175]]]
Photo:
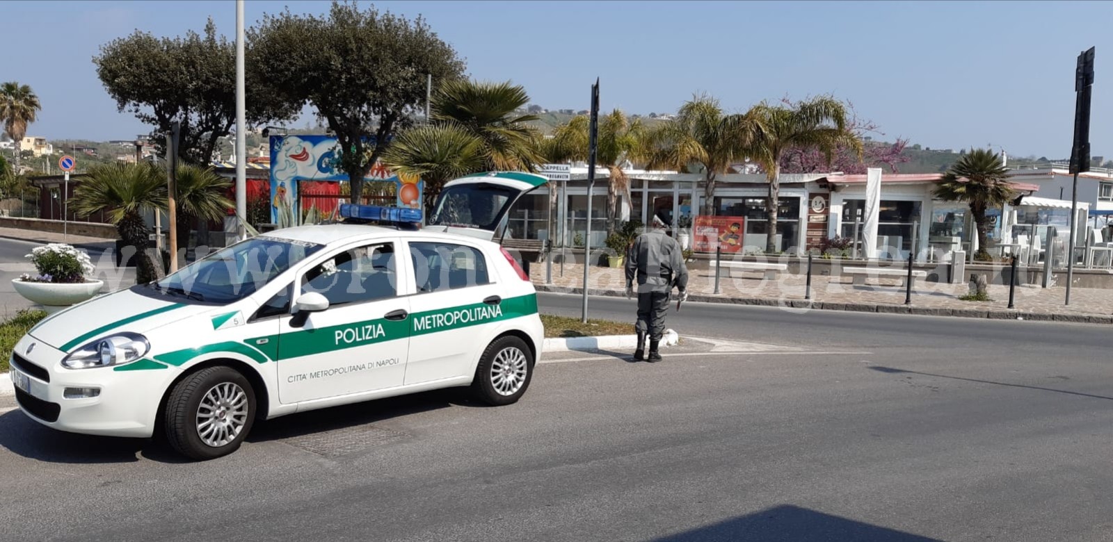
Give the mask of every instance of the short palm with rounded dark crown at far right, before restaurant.
[[992, 260], [986, 250], [989, 220], [985, 212], [1016, 197], [1008, 183], [1008, 168], [1001, 163], [1001, 157], [991, 149], [972, 149], [943, 174], [935, 187], [935, 197], [969, 204], [974, 228], [977, 230], [977, 252], [974, 253], [974, 259]]

